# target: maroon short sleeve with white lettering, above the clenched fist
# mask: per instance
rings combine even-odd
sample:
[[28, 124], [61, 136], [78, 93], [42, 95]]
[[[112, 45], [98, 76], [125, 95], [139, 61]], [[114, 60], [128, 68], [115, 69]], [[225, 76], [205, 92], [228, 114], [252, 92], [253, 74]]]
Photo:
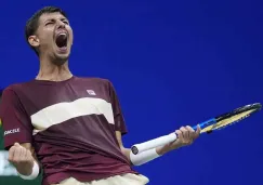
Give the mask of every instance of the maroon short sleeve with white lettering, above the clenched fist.
[[4, 148], [9, 149], [15, 142], [31, 143], [32, 125], [17, 94], [10, 88], [2, 93], [0, 119], [3, 129]]

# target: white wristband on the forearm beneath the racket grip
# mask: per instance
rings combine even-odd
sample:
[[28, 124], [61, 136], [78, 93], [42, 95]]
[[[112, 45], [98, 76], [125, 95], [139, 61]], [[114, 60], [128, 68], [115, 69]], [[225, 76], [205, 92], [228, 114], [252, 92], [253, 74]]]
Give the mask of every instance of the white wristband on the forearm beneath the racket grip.
[[137, 155], [134, 155], [132, 151], [130, 153], [130, 160], [134, 166], [144, 164], [158, 157], [160, 157], [160, 155], [156, 153], [155, 148], [139, 153]]

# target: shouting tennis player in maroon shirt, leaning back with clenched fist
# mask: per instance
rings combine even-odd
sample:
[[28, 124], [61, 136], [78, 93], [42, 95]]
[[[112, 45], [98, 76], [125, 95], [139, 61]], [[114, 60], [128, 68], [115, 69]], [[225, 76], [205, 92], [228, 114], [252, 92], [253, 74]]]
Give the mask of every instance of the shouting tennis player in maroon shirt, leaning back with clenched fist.
[[144, 185], [132, 169], [192, 144], [200, 133], [176, 130], [179, 140], [133, 155], [122, 145], [127, 127], [114, 85], [80, 78], [68, 68], [74, 35], [66, 13], [45, 6], [26, 24], [26, 39], [39, 57], [37, 77], [9, 85], [0, 118], [9, 161], [24, 180], [43, 170], [43, 185]]

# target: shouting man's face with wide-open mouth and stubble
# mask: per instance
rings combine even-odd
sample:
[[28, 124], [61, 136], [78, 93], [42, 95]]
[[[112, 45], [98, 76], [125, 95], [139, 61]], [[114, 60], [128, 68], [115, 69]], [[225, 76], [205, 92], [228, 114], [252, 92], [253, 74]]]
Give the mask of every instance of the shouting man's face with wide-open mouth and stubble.
[[70, 54], [73, 29], [61, 13], [42, 14], [36, 31], [41, 56], [49, 57], [56, 65], [64, 64]]

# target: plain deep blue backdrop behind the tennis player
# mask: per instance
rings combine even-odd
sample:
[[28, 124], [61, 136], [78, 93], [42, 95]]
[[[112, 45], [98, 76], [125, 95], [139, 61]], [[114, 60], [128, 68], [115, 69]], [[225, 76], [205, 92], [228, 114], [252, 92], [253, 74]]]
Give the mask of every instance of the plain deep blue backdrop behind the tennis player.
[[[212, 116], [263, 103], [262, 1], [2, 1], [0, 85], [36, 77], [27, 18], [43, 5], [68, 12], [76, 76], [118, 92], [127, 147]], [[262, 185], [262, 113], [136, 168], [153, 185]]]

